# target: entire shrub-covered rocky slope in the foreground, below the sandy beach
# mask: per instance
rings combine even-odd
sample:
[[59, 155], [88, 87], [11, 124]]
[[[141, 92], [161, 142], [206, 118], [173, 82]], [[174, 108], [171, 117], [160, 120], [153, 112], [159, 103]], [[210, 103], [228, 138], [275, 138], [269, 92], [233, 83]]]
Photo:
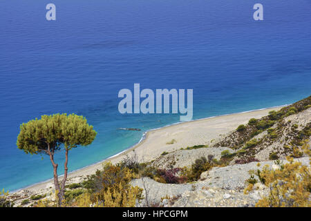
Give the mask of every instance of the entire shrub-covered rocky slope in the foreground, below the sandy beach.
[[[145, 206], [163, 206], [164, 202], [171, 206], [178, 202], [176, 205], [180, 206], [189, 199], [194, 200], [189, 204], [195, 206], [197, 200], [208, 206], [226, 203], [255, 206], [256, 202], [257, 206], [310, 206], [310, 166], [305, 166], [309, 162], [303, 157], [310, 155], [310, 148], [303, 153], [310, 143], [305, 141], [311, 136], [310, 102], [311, 97], [308, 97], [280, 111], [270, 111], [260, 119], [249, 119], [247, 124], [216, 139], [218, 141], [211, 147], [202, 144], [164, 151], [151, 162], [141, 163], [134, 154], [115, 165], [104, 164], [83, 182], [72, 180], [66, 185], [62, 206], [135, 206], [139, 202], [145, 202]], [[171, 140], [167, 144], [175, 142]], [[289, 163], [281, 164], [285, 157]], [[294, 159], [299, 157], [303, 157], [299, 159], [303, 164]], [[270, 167], [256, 166], [263, 160], [270, 160], [267, 161]], [[276, 166], [279, 167], [276, 169]], [[251, 177], [249, 169], [253, 170]], [[254, 192], [243, 198], [241, 190], [245, 188], [245, 180], [249, 184], [245, 192], [258, 191], [263, 186], [270, 192], [259, 201]], [[165, 188], [161, 193], [189, 191], [186, 195], [191, 197], [161, 195], [158, 189], [150, 189], [154, 186], [148, 187], [151, 184]], [[156, 203], [150, 200], [155, 195], [158, 197]], [[245, 199], [249, 201], [245, 202]], [[20, 197], [18, 204], [57, 206], [57, 198], [44, 192], [29, 193]], [[1, 205], [11, 205], [6, 195], [0, 196]]]

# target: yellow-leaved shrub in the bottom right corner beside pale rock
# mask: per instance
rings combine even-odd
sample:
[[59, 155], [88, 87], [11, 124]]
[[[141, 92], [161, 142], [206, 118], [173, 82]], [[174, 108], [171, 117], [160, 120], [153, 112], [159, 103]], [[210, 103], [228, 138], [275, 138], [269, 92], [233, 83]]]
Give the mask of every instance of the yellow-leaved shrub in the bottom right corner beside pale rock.
[[[303, 149], [310, 157], [308, 142]], [[288, 163], [281, 165], [280, 169], [272, 170], [264, 166], [260, 175], [261, 183], [267, 186], [269, 193], [256, 203], [258, 207], [310, 207], [310, 165], [302, 166], [301, 162], [294, 162], [287, 157]], [[259, 170], [258, 170], [259, 171]], [[247, 186], [245, 193], [252, 189]]]

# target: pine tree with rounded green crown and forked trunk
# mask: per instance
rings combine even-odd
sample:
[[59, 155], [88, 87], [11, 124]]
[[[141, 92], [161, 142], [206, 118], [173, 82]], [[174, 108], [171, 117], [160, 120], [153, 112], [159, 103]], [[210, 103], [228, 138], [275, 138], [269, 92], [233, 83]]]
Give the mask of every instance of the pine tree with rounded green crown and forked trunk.
[[[68, 173], [68, 151], [77, 146], [87, 146], [96, 137], [93, 126], [87, 124], [83, 116], [75, 114], [43, 115], [41, 119], [32, 119], [26, 124], [21, 124], [17, 137], [17, 147], [27, 154], [46, 154], [53, 165], [55, 191], [58, 205], [64, 201], [65, 182]], [[59, 185], [57, 167], [54, 154], [64, 147], [65, 164], [64, 178]]]

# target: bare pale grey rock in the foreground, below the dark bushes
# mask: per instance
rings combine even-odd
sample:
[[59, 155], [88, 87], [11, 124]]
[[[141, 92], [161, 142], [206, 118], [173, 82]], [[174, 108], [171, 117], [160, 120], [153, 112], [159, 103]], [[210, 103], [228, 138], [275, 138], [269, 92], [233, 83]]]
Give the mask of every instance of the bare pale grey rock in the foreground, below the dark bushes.
[[[296, 159], [303, 165], [309, 165], [309, 157]], [[283, 161], [286, 163], [286, 160]], [[236, 164], [224, 167], [214, 167], [211, 171], [201, 174], [198, 182], [187, 184], [162, 184], [148, 177], [133, 180], [133, 186], [144, 189], [147, 201], [143, 200], [137, 206], [255, 206], [256, 202], [267, 194], [263, 184], [256, 184], [254, 191], [245, 195], [249, 171], [262, 169], [264, 165], [279, 168], [274, 161]], [[258, 177], [257, 177], [258, 178]], [[148, 204], [148, 205], [147, 205]]]

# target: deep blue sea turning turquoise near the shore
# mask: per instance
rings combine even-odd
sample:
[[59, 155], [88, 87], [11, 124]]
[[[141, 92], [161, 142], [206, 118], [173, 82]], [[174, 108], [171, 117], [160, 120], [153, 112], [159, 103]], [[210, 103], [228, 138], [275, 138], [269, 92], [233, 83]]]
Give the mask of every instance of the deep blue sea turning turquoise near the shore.
[[[55, 3], [57, 20], [46, 21]], [[264, 21], [254, 21], [262, 3]], [[0, 189], [52, 177], [17, 149], [19, 125], [84, 115], [97, 131], [74, 171], [124, 151], [173, 115], [121, 115], [122, 88], [193, 88], [194, 119], [290, 104], [311, 94], [310, 0], [1, 0]], [[120, 131], [117, 128], [141, 128]], [[59, 174], [64, 153], [57, 153]]]

